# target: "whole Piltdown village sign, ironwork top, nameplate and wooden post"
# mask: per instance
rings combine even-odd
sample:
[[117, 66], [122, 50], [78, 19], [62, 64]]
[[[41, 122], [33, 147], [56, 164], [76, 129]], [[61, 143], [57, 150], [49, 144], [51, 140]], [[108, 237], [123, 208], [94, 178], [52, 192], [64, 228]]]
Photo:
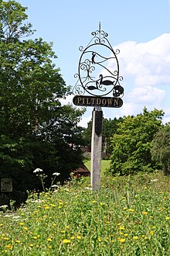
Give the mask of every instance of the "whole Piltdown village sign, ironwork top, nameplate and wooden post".
[[[93, 106], [93, 130], [91, 137], [91, 187], [100, 189], [100, 158], [102, 145], [102, 116], [101, 107], [120, 108], [123, 105], [121, 96], [124, 88], [121, 87], [119, 76], [119, 64], [117, 54], [119, 50], [113, 50], [108, 34], [99, 29], [91, 33], [93, 38], [86, 48], [80, 47], [78, 78], [73, 88], [73, 103], [76, 106]], [[109, 69], [112, 61], [112, 70]], [[87, 92], [87, 95], [84, 93]], [[111, 97], [106, 95], [111, 94]]]

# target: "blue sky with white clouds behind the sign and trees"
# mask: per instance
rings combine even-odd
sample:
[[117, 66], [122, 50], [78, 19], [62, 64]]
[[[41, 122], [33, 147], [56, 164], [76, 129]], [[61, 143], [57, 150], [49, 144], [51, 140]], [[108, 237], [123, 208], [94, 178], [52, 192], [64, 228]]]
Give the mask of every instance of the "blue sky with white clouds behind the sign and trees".
[[[66, 85], [76, 84], [81, 52], [91, 33], [108, 33], [124, 78], [123, 106], [102, 108], [104, 118], [137, 115], [146, 106], [149, 111], [163, 109], [164, 123], [170, 122], [170, 0], [18, 0], [28, 7], [28, 21], [36, 33], [53, 42], [58, 57], [54, 60]], [[111, 67], [111, 65], [110, 65]], [[73, 102], [69, 96], [66, 102]], [[87, 107], [80, 126], [87, 127], [93, 107]]]

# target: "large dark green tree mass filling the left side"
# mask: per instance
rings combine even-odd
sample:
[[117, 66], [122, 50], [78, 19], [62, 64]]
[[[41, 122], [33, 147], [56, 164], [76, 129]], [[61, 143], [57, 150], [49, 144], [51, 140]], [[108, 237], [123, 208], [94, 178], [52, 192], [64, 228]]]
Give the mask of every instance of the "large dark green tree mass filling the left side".
[[66, 178], [81, 161], [84, 112], [61, 106], [70, 88], [53, 64], [53, 43], [29, 39], [27, 18], [18, 2], [0, 0], [0, 178], [25, 190], [35, 188], [35, 168]]

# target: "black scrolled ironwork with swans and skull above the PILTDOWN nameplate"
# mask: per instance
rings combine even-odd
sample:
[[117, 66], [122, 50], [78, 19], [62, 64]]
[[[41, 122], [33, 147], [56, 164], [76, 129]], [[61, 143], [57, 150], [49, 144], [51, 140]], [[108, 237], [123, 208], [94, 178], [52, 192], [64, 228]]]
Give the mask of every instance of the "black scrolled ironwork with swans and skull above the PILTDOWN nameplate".
[[124, 88], [120, 82], [117, 54], [120, 50], [114, 50], [107, 40], [108, 34], [99, 29], [91, 33], [93, 38], [86, 48], [82, 46], [82, 52], [78, 65], [76, 85], [73, 88], [74, 95], [84, 95], [87, 92], [93, 96], [104, 96], [110, 93], [115, 98], [124, 95]]

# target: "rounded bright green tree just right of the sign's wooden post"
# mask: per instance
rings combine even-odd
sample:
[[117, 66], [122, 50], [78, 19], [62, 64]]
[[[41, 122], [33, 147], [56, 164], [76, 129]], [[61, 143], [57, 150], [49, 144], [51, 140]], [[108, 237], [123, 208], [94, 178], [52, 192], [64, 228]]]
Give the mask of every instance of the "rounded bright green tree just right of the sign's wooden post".
[[117, 134], [114, 134], [111, 145], [110, 172], [113, 175], [133, 175], [138, 171], [153, 171], [155, 161], [151, 159], [151, 141], [162, 127], [162, 110], [124, 117], [119, 123]]

